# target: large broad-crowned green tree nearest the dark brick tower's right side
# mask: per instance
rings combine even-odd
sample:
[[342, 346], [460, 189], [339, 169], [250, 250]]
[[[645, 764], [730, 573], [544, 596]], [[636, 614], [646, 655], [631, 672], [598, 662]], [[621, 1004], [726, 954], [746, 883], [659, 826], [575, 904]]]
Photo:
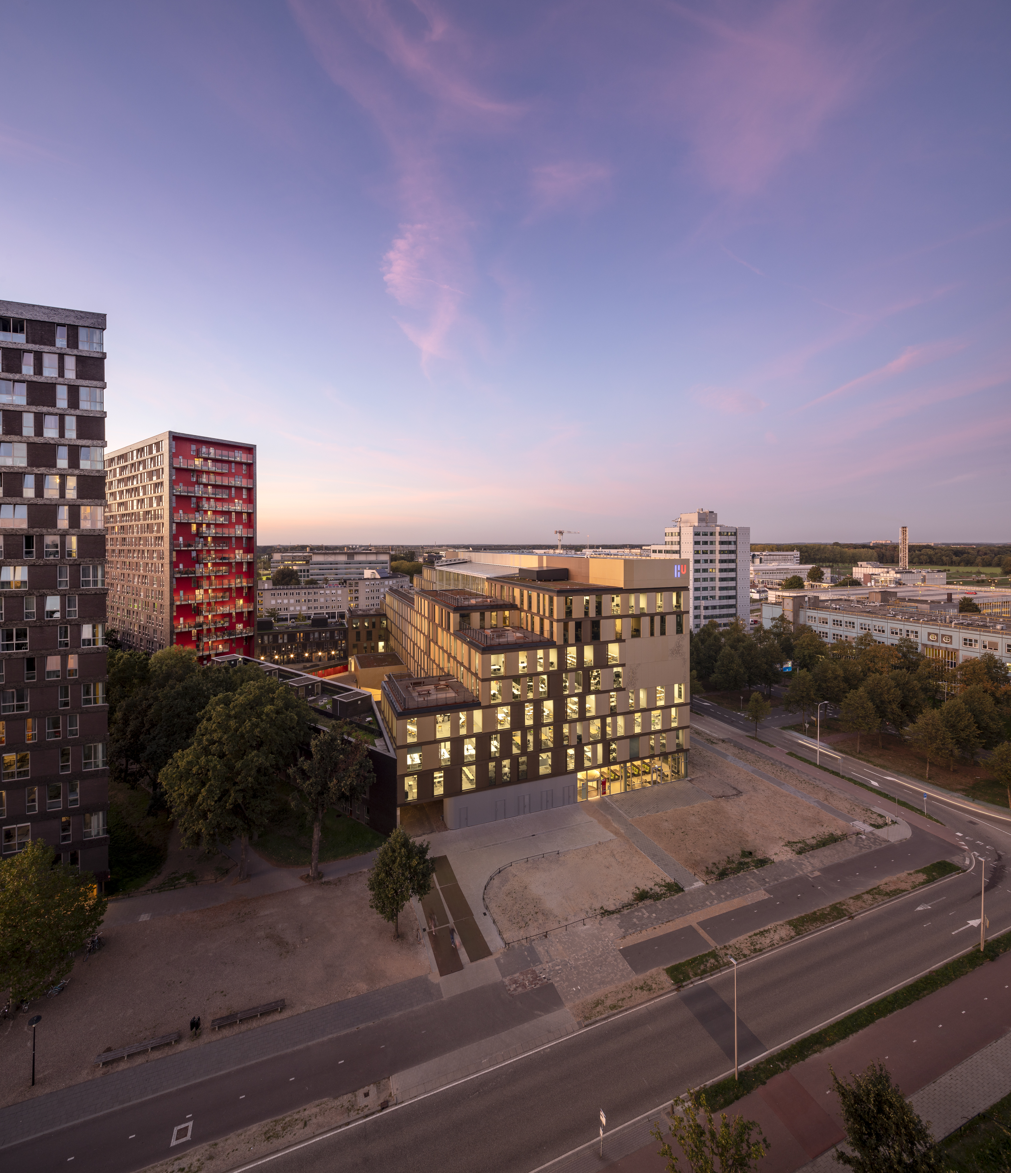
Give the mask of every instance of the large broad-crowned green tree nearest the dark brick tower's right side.
[[311, 719], [286, 684], [263, 674], [213, 697], [192, 744], [158, 778], [184, 846], [239, 839], [245, 880], [250, 838], [267, 826], [274, 782], [308, 744]]

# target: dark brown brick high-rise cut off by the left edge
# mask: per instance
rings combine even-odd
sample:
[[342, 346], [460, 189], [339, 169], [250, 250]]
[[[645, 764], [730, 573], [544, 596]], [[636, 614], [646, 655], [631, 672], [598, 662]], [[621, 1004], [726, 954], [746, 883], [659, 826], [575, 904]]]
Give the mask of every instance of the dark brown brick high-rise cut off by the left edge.
[[0, 301], [0, 826], [108, 877], [106, 316]]

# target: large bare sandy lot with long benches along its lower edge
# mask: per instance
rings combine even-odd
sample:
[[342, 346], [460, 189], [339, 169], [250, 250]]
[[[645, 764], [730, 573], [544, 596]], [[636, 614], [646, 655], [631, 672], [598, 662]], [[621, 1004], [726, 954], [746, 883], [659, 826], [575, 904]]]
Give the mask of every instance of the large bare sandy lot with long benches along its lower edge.
[[[181, 1046], [213, 1045], [220, 1015], [284, 998], [284, 1016], [429, 971], [413, 916], [401, 938], [368, 908], [366, 874], [160, 920], [104, 928], [101, 952], [77, 961], [70, 984], [29, 1013], [0, 1023], [0, 1103], [101, 1079], [124, 1064], [157, 1063]], [[406, 933], [405, 933], [406, 928]], [[30, 1013], [42, 1013], [36, 1084], [28, 1086]], [[190, 1039], [189, 1022], [204, 1030]], [[252, 1019], [222, 1031], [256, 1030]], [[175, 1047], [95, 1067], [107, 1047], [182, 1031]]]

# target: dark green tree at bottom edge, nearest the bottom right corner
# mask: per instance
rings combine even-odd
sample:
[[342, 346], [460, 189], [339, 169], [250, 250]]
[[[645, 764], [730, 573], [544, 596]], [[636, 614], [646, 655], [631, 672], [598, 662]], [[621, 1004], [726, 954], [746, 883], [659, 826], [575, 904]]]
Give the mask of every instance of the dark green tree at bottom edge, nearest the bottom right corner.
[[850, 1072], [846, 1083], [832, 1071], [832, 1080], [853, 1150], [836, 1153], [840, 1164], [856, 1173], [939, 1173], [930, 1124], [920, 1119], [883, 1063], [871, 1063], [860, 1076]]

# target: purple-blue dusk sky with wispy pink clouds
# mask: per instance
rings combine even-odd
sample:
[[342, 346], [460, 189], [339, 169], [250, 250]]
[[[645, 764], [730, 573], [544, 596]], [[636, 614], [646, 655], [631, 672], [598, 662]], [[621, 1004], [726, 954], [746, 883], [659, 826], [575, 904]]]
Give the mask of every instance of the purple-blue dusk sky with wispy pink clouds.
[[[0, 297], [260, 542], [1007, 541], [1011, 8], [5, 5]], [[576, 540], [579, 540], [578, 537]]]

